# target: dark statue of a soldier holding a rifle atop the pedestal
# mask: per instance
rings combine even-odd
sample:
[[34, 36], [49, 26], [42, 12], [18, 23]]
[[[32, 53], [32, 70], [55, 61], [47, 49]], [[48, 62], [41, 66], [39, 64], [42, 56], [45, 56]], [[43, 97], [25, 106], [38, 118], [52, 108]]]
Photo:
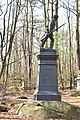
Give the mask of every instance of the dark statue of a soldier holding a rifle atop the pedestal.
[[50, 38], [51, 43], [50, 43], [50, 48], [53, 48], [53, 44], [54, 44], [54, 38], [53, 38], [53, 30], [55, 28], [55, 23], [58, 19], [58, 15], [54, 15], [53, 19], [50, 22], [50, 26], [46, 26], [46, 31], [45, 34], [43, 35], [42, 39], [41, 39], [41, 47], [44, 47], [45, 42], [47, 41], [48, 38]]

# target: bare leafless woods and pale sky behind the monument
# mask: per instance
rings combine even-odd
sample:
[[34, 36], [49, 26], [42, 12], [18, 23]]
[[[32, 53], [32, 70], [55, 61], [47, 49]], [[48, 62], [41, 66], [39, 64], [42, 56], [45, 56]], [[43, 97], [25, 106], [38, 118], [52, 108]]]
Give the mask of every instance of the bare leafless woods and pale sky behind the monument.
[[53, 32], [58, 86], [74, 87], [80, 72], [80, 1], [0, 0], [0, 89], [4, 94], [14, 88], [34, 89], [41, 37], [55, 14], [59, 16]]

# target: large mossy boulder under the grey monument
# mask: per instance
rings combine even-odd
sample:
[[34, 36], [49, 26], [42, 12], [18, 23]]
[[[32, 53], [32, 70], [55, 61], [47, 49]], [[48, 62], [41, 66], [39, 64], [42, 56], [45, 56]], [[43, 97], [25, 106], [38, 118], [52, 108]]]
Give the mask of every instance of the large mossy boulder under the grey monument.
[[[20, 105], [18, 104], [16, 107], [17, 110]], [[79, 120], [80, 108], [60, 101], [28, 101], [19, 109], [19, 114], [25, 117], [32, 117], [34, 120], [49, 118]]]

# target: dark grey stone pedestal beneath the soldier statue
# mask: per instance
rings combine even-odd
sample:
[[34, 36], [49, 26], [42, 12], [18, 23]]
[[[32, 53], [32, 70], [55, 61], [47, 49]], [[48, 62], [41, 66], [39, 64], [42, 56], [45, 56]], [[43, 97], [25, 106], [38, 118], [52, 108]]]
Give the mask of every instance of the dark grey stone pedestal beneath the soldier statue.
[[57, 55], [53, 49], [40, 49], [38, 57], [38, 79], [34, 100], [60, 101], [57, 81]]

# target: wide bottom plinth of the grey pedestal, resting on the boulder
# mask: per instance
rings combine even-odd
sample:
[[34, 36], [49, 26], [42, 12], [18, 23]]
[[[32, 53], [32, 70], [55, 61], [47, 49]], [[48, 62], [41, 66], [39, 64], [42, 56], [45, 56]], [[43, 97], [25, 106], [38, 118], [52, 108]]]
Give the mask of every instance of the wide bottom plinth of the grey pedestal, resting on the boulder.
[[34, 100], [45, 100], [45, 101], [60, 101], [61, 95], [57, 92], [52, 91], [35, 91]]

